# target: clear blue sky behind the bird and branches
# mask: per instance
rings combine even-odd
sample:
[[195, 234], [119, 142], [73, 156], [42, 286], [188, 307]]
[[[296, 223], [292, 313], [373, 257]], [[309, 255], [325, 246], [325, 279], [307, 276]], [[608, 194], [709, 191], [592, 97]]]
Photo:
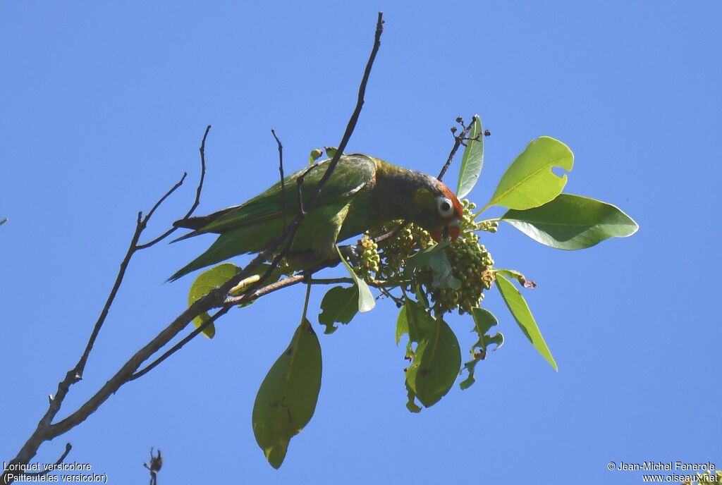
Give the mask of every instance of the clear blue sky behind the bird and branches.
[[[186, 211], [206, 124], [198, 214], [274, 183], [271, 127], [289, 171], [338, 143], [382, 9], [386, 30], [347, 152], [435, 174], [454, 118], [479, 113], [492, 136], [474, 201], [488, 200], [531, 139], [549, 135], [575, 153], [565, 191], [640, 224], [633, 237], [573, 253], [512, 227], [485, 238], [497, 266], [539, 284], [524, 294], [559, 372], [490, 292], [484, 305], [505, 346], [469, 390], [455, 386], [409, 414], [396, 308], [382, 301], [319, 336], [316, 415], [275, 471], [253, 440], [251, 408], [300, 318], [295, 287], [232, 311], [216, 338], [123, 387], [36, 459], [54, 462], [69, 441], [68, 459], [111, 483], [143, 483], [151, 446], [165, 455], [162, 483], [632, 484], [639, 473], [606, 464], [722, 465], [718, 2], [169, 5], [0, 6], [1, 459], [17, 453], [82, 352], [136, 212], [183, 171], [188, 183], [149, 235]], [[192, 279], [163, 281], [211, 240], [158, 245], [131, 263], [61, 416], [183, 310]], [[322, 296], [314, 289], [312, 308]], [[462, 348], [473, 343], [468, 318], [449, 323]]]

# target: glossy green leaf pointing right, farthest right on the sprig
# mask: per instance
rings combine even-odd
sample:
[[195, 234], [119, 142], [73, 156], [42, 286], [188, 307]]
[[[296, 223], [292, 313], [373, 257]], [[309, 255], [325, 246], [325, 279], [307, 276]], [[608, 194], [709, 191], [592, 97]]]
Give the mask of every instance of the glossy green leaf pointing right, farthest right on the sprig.
[[543, 206], [510, 210], [503, 221], [551, 248], [591, 248], [609, 237], [631, 236], [639, 226], [612, 204], [562, 193]]

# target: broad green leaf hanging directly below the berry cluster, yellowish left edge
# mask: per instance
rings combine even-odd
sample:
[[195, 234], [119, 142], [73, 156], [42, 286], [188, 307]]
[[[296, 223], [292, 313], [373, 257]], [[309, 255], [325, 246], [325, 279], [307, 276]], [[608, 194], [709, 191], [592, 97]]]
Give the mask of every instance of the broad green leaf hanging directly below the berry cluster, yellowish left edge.
[[419, 401], [428, 408], [448, 393], [458, 376], [459, 367], [461, 351], [456, 335], [449, 325], [438, 317], [433, 331], [419, 341], [412, 364], [406, 370], [406, 383]]

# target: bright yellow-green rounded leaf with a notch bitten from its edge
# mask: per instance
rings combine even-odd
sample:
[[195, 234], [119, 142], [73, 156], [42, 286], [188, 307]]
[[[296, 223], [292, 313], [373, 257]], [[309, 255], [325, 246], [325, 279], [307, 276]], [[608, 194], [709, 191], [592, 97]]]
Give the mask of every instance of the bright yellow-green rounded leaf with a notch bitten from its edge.
[[549, 136], [539, 136], [511, 162], [484, 209], [493, 205], [531, 209], [546, 204], [567, 183], [567, 175], [557, 177], [552, 167], [569, 171], [573, 165], [574, 154], [569, 147]]

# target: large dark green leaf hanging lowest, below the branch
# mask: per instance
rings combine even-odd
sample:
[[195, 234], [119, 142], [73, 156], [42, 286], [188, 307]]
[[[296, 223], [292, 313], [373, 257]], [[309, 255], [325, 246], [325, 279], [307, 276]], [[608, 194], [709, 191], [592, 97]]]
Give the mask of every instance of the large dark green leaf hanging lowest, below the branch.
[[305, 318], [253, 403], [253, 434], [271, 466], [279, 468], [288, 444], [313, 416], [321, 390], [321, 345]]

